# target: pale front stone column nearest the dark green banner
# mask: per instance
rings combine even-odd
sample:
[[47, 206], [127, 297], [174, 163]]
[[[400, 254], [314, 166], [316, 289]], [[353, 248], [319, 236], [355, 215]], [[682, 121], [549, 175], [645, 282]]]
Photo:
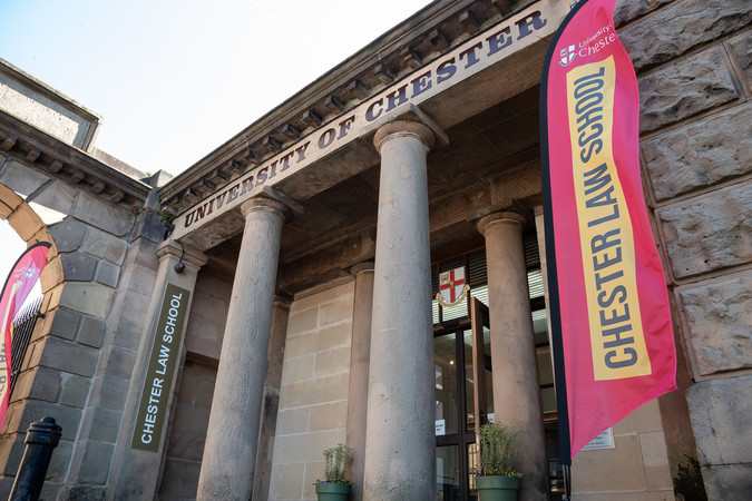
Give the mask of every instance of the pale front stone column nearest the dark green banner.
[[282, 225], [287, 208], [254, 198], [245, 216], [232, 298], [227, 311], [198, 500], [246, 500], [253, 489], [272, 304]]

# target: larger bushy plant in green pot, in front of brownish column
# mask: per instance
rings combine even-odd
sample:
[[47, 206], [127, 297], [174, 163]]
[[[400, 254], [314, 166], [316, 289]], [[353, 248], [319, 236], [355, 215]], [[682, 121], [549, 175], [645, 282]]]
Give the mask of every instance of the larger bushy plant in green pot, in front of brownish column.
[[501, 423], [480, 426], [480, 465], [476, 471], [476, 489], [480, 501], [517, 501], [519, 478], [515, 471], [519, 431]]

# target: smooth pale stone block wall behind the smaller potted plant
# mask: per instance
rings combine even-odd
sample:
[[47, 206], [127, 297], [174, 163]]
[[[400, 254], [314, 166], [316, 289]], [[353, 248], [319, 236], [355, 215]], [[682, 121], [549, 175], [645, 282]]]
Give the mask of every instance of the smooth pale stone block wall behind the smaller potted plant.
[[323, 450], [345, 441], [353, 295], [350, 282], [290, 308], [270, 500], [315, 499]]

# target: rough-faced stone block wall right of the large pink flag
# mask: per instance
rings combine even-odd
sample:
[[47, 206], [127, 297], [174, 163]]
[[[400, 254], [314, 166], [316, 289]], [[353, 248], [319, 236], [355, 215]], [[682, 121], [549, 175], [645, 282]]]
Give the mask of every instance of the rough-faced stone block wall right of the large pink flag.
[[745, 499], [752, 11], [745, 0], [624, 3], [619, 36], [638, 77], [646, 197], [676, 305], [680, 356], [696, 383], [686, 392], [696, 456], [711, 499]]

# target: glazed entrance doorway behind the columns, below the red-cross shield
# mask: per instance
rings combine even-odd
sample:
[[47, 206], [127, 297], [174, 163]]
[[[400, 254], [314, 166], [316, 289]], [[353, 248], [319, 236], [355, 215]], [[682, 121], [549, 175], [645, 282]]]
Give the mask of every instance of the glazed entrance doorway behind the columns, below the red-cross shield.
[[[526, 234], [524, 245], [544, 411], [540, 418], [546, 430], [551, 499], [557, 500], [561, 499], [563, 492], [558, 422], [548, 318], [535, 234]], [[438, 299], [433, 301], [437, 499], [473, 501], [478, 499], [475, 475], [470, 473], [477, 465], [476, 429], [494, 421], [495, 409], [485, 250], [434, 263], [434, 295], [440, 289], [439, 275], [458, 268], [465, 271], [465, 279], [470, 286], [468, 297], [456, 306], [442, 306]]]

